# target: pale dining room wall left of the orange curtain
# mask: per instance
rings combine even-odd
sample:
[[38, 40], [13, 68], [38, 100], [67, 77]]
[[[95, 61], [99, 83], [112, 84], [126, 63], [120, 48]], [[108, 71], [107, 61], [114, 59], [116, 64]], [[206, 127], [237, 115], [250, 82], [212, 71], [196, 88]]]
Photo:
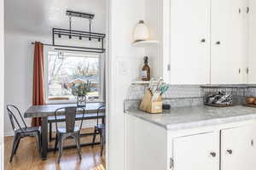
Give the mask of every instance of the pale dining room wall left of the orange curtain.
[[[32, 75], [33, 75], [33, 45], [31, 42], [46, 42], [46, 37], [33, 37], [30, 35], [5, 34], [5, 105], [13, 104], [21, 112], [32, 105]], [[30, 123], [30, 120], [26, 120]], [[9, 116], [5, 111], [4, 134], [12, 135], [13, 130]]]

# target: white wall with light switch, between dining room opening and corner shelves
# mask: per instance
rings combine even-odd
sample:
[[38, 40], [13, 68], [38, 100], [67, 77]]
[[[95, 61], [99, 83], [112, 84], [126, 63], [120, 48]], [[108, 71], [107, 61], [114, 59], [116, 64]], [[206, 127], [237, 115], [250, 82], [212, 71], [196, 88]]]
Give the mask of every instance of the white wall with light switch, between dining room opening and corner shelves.
[[[110, 1], [110, 69], [108, 76], [109, 136], [108, 162], [110, 170], [125, 169], [124, 99], [131, 81], [138, 77], [144, 49], [131, 46], [132, 31], [138, 20], [144, 20], [145, 0]], [[121, 74], [121, 68], [127, 72]]]

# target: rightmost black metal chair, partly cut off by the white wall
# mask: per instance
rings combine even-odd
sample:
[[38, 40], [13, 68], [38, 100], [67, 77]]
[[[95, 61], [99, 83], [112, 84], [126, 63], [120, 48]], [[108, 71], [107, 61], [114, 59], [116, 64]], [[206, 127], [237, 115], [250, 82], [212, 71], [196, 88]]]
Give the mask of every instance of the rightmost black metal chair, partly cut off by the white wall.
[[95, 140], [96, 140], [96, 133], [100, 134], [100, 139], [101, 139], [101, 145], [102, 145], [102, 149], [101, 149], [101, 156], [103, 153], [103, 149], [104, 149], [104, 144], [106, 142], [106, 126], [105, 126], [105, 122], [102, 121], [102, 123], [99, 123], [99, 111], [101, 109], [105, 109], [105, 105], [100, 106], [97, 109], [97, 118], [96, 118], [96, 126], [94, 127], [94, 135], [93, 135], [93, 139], [92, 139], [92, 147], [94, 147], [95, 144]]

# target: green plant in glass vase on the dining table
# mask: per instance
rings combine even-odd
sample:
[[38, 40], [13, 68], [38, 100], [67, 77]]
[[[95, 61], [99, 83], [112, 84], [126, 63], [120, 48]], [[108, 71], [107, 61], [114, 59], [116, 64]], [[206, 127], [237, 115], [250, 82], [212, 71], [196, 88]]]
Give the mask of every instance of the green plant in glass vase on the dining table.
[[81, 82], [78, 85], [72, 87], [72, 94], [77, 97], [78, 107], [84, 107], [86, 105], [87, 93], [90, 92], [90, 81]]

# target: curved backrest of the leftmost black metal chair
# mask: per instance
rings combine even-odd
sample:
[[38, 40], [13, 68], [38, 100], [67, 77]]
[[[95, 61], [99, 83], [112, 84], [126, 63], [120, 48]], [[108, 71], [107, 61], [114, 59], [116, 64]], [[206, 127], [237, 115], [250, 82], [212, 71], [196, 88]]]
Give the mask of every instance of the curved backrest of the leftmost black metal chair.
[[[11, 122], [13, 130], [15, 131], [15, 130], [20, 129], [21, 132], [23, 132], [21, 126], [26, 127], [26, 122], [24, 121], [23, 117], [21, 116], [21, 113], [20, 113], [19, 109], [15, 105], [7, 105], [6, 108], [7, 108], [7, 111], [8, 111], [9, 120]], [[20, 117], [23, 125], [20, 125], [20, 122], [18, 121], [18, 118], [15, 115], [18, 115]], [[18, 127], [16, 127], [16, 125]]]

